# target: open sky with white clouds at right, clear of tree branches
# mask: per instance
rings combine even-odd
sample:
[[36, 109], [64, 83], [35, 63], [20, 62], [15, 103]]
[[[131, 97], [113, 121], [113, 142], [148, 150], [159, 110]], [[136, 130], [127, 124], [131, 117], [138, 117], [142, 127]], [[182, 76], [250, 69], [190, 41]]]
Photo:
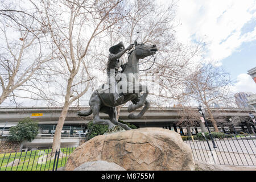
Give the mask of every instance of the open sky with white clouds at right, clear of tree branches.
[[177, 38], [205, 42], [205, 60], [230, 73], [233, 92], [256, 93], [247, 75], [256, 67], [256, 0], [179, 0], [177, 6]]

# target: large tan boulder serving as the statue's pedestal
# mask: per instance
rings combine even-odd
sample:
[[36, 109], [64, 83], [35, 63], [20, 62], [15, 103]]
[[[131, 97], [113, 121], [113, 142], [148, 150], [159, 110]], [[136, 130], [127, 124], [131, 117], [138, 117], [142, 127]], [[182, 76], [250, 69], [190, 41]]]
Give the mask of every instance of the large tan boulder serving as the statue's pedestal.
[[85, 162], [105, 160], [126, 170], [195, 170], [191, 148], [174, 131], [143, 128], [100, 135], [69, 156], [65, 170]]

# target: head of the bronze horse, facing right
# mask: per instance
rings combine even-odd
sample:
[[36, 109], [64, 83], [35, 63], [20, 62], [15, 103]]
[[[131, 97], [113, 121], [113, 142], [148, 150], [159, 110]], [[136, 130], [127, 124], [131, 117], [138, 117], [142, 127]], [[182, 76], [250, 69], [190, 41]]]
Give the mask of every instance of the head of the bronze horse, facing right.
[[145, 44], [137, 44], [134, 49], [136, 57], [139, 59], [143, 59], [144, 57], [154, 55], [158, 48], [156, 45], [145, 45]]

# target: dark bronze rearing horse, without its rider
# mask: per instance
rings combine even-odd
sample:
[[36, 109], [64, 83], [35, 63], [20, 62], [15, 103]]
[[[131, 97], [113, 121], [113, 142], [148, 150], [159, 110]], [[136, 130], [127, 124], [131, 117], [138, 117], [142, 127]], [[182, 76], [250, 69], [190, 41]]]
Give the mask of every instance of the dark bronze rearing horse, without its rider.
[[[155, 45], [145, 45], [145, 44], [137, 44], [135, 45], [134, 50], [130, 53], [128, 61], [126, 63], [126, 67], [121, 74], [121, 79], [118, 82], [125, 83], [122, 84], [122, 90], [126, 90], [123, 92], [123, 96], [125, 97], [123, 102], [119, 105], [126, 104], [126, 102], [131, 101], [133, 104], [129, 105], [128, 111], [131, 113], [132, 111], [138, 109], [139, 107], [143, 107], [141, 112], [138, 115], [134, 115], [133, 113], [129, 114], [128, 118], [130, 119], [139, 119], [142, 118], [144, 113], [150, 107], [150, 102], [146, 100], [148, 96], [148, 89], [146, 85], [142, 85], [138, 82], [139, 80], [139, 60], [144, 59], [144, 57], [154, 55], [158, 51]], [[131, 78], [132, 77], [132, 78]], [[135, 80], [135, 81], [134, 81]], [[124, 86], [126, 86], [124, 88]], [[90, 109], [86, 111], [79, 111], [77, 114], [80, 116], [88, 116], [93, 113], [93, 123], [108, 125], [109, 129], [112, 129], [115, 125], [121, 126], [125, 130], [131, 130], [127, 125], [120, 123], [117, 121], [117, 110], [114, 105], [113, 94], [110, 92], [102, 92], [105, 89], [109, 91], [108, 84], [103, 84], [101, 89], [97, 89], [90, 96], [89, 106]], [[139, 94], [144, 92], [142, 96]], [[109, 115], [109, 119], [101, 119], [99, 113], [105, 113]]]

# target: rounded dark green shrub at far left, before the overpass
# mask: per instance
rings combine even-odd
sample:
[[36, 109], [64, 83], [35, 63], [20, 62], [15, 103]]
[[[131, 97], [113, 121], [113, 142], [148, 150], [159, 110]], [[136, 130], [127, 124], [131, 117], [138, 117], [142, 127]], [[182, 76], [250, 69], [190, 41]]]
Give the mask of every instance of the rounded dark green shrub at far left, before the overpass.
[[28, 140], [31, 142], [38, 135], [38, 123], [33, 121], [31, 118], [24, 118], [19, 121], [18, 125], [11, 127], [9, 140], [15, 142], [23, 142]]

